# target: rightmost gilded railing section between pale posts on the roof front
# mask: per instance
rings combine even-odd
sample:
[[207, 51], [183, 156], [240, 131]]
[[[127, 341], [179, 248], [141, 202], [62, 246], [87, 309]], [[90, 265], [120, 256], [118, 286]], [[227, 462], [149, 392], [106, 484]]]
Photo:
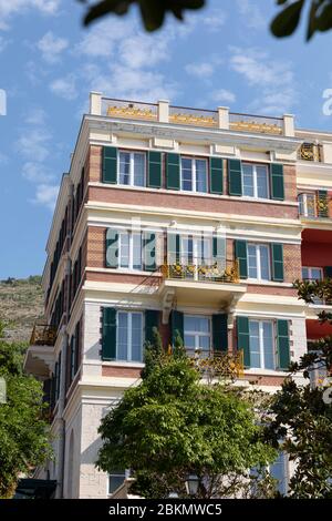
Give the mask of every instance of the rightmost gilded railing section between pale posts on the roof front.
[[263, 115], [229, 113], [230, 130], [241, 132], [255, 132], [259, 134], [277, 134], [283, 132], [282, 118], [269, 118]]

